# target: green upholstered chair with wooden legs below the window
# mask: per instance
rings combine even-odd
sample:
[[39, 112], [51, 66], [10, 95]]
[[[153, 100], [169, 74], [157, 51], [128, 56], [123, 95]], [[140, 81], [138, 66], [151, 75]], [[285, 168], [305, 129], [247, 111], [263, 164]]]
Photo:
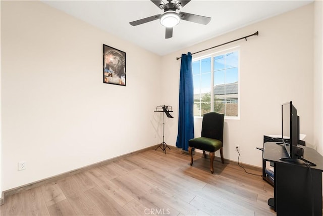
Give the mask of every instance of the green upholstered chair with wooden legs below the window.
[[210, 170], [213, 174], [214, 152], [220, 149], [221, 161], [223, 159], [223, 126], [224, 114], [218, 112], [208, 112], [203, 115], [201, 137], [194, 138], [188, 141], [188, 152], [191, 155], [190, 165], [193, 165], [192, 148], [203, 150], [203, 155], [206, 158], [205, 151], [210, 155]]

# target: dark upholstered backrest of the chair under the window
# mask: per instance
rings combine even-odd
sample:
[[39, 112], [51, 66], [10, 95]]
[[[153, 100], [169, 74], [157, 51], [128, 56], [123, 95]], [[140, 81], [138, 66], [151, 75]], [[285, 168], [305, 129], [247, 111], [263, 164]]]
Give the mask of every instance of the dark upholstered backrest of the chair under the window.
[[217, 139], [223, 142], [224, 114], [208, 112], [203, 115], [202, 137]]

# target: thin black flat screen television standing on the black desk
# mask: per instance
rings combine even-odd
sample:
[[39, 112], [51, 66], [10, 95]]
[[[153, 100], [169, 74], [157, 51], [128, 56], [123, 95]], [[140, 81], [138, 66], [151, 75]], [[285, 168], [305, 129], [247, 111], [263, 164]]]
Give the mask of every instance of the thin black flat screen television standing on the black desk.
[[281, 160], [301, 159], [310, 165], [316, 166], [314, 163], [303, 158], [304, 149], [299, 147], [299, 116], [297, 109], [292, 101], [282, 104], [282, 141], [287, 151], [288, 157], [280, 158]]

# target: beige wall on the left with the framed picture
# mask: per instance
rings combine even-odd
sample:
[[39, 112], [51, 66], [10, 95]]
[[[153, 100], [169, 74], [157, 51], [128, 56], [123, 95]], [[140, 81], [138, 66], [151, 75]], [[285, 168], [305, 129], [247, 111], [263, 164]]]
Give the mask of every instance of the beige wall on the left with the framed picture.
[[[160, 142], [159, 56], [37, 1], [1, 1], [1, 22], [4, 191]], [[102, 83], [102, 44], [126, 87]]]

